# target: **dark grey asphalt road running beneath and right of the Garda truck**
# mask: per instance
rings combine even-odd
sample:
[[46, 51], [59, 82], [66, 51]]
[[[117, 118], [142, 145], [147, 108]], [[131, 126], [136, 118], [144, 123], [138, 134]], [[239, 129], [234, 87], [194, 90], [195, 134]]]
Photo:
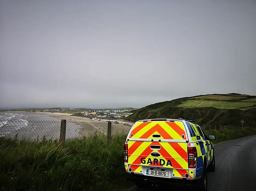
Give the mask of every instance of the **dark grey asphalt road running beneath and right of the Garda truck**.
[[[215, 172], [207, 173], [208, 191], [256, 191], [256, 136], [220, 143], [214, 147], [216, 169]], [[166, 189], [158, 187], [150, 190]], [[180, 191], [175, 187], [169, 187], [168, 190]], [[127, 191], [144, 189], [134, 186]]]

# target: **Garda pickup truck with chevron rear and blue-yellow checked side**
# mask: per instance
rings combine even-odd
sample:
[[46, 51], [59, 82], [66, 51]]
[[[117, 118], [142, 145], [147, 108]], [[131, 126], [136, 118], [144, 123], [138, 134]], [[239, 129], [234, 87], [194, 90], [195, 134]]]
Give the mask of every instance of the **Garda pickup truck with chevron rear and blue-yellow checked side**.
[[215, 170], [214, 139], [181, 118], [139, 120], [124, 144], [127, 180], [138, 187], [168, 183], [207, 191], [206, 172]]

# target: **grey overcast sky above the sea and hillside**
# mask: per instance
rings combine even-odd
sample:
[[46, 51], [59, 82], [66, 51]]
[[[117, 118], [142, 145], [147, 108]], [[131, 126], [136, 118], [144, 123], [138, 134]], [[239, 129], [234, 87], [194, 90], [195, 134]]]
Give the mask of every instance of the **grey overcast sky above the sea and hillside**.
[[255, 0], [0, 2], [0, 108], [256, 95]]

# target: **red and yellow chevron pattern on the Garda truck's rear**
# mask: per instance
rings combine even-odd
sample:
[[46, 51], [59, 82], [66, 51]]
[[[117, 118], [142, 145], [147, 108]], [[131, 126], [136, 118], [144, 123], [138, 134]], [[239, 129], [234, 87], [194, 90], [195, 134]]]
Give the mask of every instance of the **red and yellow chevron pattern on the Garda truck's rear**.
[[[130, 132], [129, 138], [155, 139], [154, 134], [161, 135], [157, 139], [187, 139], [185, 127], [180, 121], [138, 122]], [[160, 146], [160, 148], [152, 149], [150, 148], [151, 145]], [[161, 155], [153, 157], [152, 152]], [[187, 170], [187, 143], [129, 140], [127, 170], [131, 169], [131, 172], [141, 173], [143, 166], [170, 168], [173, 169], [173, 176], [185, 178], [185, 174], [189, 174]]]

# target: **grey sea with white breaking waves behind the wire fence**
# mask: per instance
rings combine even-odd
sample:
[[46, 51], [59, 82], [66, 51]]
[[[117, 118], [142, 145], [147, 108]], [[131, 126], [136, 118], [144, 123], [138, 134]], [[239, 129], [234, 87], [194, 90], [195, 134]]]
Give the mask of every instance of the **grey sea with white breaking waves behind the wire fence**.
[[[57, 140], [60, 136], [61, 120], [43, 113], [33, 112], [0, 112], [0, 137]], [[79, 138], [81, 126], [68, 121], [66, 139]]]

